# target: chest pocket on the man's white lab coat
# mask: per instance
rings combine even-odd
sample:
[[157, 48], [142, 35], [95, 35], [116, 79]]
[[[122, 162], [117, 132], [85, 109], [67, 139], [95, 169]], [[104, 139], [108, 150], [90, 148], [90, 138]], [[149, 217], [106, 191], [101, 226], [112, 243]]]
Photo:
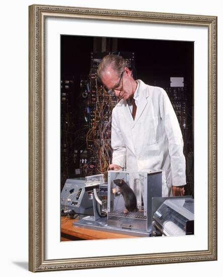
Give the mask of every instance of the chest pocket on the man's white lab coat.
[[161, 129], [161, 119], [160, 117], [152, 117], [148, 121], [147, 125], [148, 133], [148, 145], [153, 145], [162, 141], [162, 129]]

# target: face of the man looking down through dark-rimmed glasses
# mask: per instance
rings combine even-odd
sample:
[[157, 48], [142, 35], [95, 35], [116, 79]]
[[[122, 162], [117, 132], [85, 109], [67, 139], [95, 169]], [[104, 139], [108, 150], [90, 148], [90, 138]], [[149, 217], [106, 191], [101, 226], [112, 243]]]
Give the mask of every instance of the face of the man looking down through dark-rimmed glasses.
[[124, 100], [128, 99], [133, 95], [132, 86], [130, 82], [131, 73], [127, 67], [121, 76], [118, 76], [111, 66], [106, 68], [101, 81], [108, 88], [108, 90], [113, 90], [116, 97], [122, 98]]

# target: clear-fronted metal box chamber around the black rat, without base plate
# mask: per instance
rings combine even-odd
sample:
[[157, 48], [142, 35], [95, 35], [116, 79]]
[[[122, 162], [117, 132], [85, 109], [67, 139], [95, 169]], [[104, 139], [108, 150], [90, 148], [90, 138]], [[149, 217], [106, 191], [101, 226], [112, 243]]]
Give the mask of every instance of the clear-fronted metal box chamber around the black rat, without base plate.
[[142, 233], [142, 235], [151, 235], [152, 199], [153, 197], [162, 196], [162, 171], [143, 172], [137, 175], [140, 184], [143, 186], [143, 207], [137, 212], [130, 212], [125, 215], [122, 195], [112, 193], [115, 187], [113, 180], [123, 179], [126, 183], [129, 183], [130, 179], [135, 177], [135, 174], [114, 171], [108, 173], [108, 192], [110, 192], [108, 193], [108, 226], [118, 227], [129, 232], [137, 231], [138, 234]]

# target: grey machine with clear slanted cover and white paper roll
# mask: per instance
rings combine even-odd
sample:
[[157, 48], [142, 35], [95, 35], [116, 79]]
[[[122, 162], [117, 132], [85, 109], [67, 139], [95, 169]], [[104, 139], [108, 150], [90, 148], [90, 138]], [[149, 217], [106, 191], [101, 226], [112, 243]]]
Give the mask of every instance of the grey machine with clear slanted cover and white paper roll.
[[158, 197], [153, 199], [153, 236], [194, 234], [194, 199]]

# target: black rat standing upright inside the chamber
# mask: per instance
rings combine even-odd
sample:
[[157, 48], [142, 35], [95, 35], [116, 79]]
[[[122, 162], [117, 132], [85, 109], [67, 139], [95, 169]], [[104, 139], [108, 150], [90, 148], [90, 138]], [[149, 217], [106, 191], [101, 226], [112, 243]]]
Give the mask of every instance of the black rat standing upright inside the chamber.
[[125, 207], [129, 212], [137, 211], [137, 201], [133, 190], [123, 179], [116, 179], [113, 182], [119, 187], [119, 191], [124, 198]]

